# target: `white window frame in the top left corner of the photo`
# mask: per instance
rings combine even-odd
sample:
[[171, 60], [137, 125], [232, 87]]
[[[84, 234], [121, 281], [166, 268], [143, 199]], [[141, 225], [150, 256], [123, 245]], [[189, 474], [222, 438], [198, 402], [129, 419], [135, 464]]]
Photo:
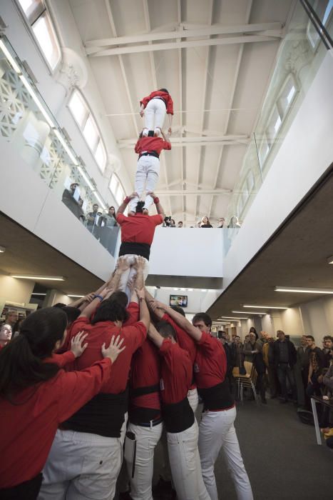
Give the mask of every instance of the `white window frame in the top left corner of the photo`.
[[[26, 15], [26, 12], [24, 11], [23, 6], [21, 6], [21, 3], [19, 0], [14, 0], [14, 3], [16, 5], [16, 9], [18, 9], [19, 14], [21, 15], [21, 18], [24, 21], [24, 24], [26, 24], [26, 27], [29, 29], [29, 34], [31, 36], [31, 39], [33, 39], [33, 41], [34, 41], [34, 44], [36, 45], [36, 49], [39, 51], [39, 54], [41, 55], [41, 58], [43, 59], [44, 63], [46, 64], [48, 71], [50, 72], [50, 74], [53, 75], [53, 74], [56, 74], [56, 71], [58, 71], [58, 68], [59, 68], [61, 61], [63, 59], [63, 54], [62, 54], [62, 50], [61, 50], [61, 44], [60, 44], [58, 32], [57, 32], [56, 26], [53, 22], [51, 12], [48, 9], [48, 5], [46, 4], [45, 0], [40, 0], [40, 1], [41, 1], [41, 6], [43, 6], [43, 7], [41, 7], [41, 9], [37, 9], [38, 15], [36, 16], [34, 21], [31, 21], [31, 19], [28, 18], [28, 16]], [[51, 26], [52, 33], [51, 34], [49, 33], [50, 38], [52, 40], [52, 37], [53, 37], [53, 39], [56, 43], [56, 48], [58, 49], [59, 56], [58, 56], [58, 60], [56, 61], [56, 64], [54, 67], [51, 66], [50, 61], [48, 61], [48, 59], [46, 58], [46, 54], [44, 53], [44, 51], [42, 49], [41, 43], [34, 32], [34, 24], [36, 23], [36, 21], [41, 19], [43, 14], [46, 14], [46, 17], [48, 19], [48, 23]]]

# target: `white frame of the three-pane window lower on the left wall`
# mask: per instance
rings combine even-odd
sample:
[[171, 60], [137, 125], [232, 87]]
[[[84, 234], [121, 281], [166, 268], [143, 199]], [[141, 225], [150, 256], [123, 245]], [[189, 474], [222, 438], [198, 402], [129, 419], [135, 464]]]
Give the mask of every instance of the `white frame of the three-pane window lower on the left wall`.
[[[71, 99], [73, 99], [73, 96], [78, 96], [78, 99], [81, 101], [81, 104], [83, 104], [84, 108], [86, 109], [86, 114], [83, 117], [82, 123], [78, 121], [76, 118], [73, 110], [71, 109]], [[91, 107], [88, 105], [88, 102], [84, 98], [83, 94], [81, 93], [80, 90], [77, 88], [74, 88], [73, 91], [71, 92], [71, 95], [69, 96], [68, 103], [67, 103], [68, 111], [71, 113], [71, 116], [73, 116], [73, 120], [75, 121], [76, 125], [78, 126], [78, 129], [81, 132], [81, 136], [83, 138], [83, 141], [85, 141], [86, 146], [88, 147], [89, 151], [91, 151], [91, 154], [93, 155], [93, 159], [96, 161], [96, 165], [98, 166], [98, 169], [101, 171], [101, 174], [104, 174], [104, 171], [106, 170], [106, 164], [108, 163], [108, 153], [106, 150], [106, 144], [103, 141], [103, 136], [101, 134], [101, 129], [99, 128], [96, 118], [91, 111]], [[86, 139], [86, 136], [83, 134], [83, 130], [86, 128], [86, 124], [88, 120], [91, 120], [93, 126], [96, 128], [97, 132], [97, 139], [96, 139], [96, 144], [94, 144], [93, 148], [88, 144], [88, 141]], [[102, 151], [103, 151], [103, 156], [105, 159], [103, 167], [98, 163], [96, 159], [96, 151], [98, 149], [98, 146], [101, 144]]]

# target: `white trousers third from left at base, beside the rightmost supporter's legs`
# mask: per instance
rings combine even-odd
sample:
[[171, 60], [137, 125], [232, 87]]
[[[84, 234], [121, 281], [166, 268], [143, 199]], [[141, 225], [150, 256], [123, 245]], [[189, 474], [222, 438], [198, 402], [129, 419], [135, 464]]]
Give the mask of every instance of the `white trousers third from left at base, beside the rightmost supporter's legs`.
[[210, 500], [201, 473], [198, 424], [179, 433], [167, 433], [173, 484], [178, 500]]

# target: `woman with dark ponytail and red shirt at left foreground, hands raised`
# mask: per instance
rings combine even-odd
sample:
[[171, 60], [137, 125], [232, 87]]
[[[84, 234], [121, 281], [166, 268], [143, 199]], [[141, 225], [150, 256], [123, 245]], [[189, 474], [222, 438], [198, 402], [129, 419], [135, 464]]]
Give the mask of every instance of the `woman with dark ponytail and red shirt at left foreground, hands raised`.
[[113, 336], [95, 364], [66, 373], [58, 361], [73, 361], [87, 346], [81, 333], [69, 356], [53, 359], [66, 326], [61, 309], [40, 309], [29, 314], [19, 336], [0, 352], [1, 499], [37, 499], [41, 469], [58, 425], [100, 391], [110, 379], [111, 364], [125, 349]]

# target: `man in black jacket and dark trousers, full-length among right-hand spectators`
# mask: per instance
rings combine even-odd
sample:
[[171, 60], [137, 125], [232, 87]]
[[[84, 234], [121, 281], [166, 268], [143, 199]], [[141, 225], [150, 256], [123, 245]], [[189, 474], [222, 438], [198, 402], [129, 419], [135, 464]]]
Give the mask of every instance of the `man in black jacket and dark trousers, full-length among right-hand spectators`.
[[297, 389], [293, 373], [293, 367], [297, 359], [296, 349], [294, 344], [286, 338], [284, 331], [277, 330], [277, 338], [274, 343], [274, 361], [277, 369], [277, 378], [281, 386], [281, 403], [288, 402], [287, 379], [292, 387], [292, 397], [296, 401]]

